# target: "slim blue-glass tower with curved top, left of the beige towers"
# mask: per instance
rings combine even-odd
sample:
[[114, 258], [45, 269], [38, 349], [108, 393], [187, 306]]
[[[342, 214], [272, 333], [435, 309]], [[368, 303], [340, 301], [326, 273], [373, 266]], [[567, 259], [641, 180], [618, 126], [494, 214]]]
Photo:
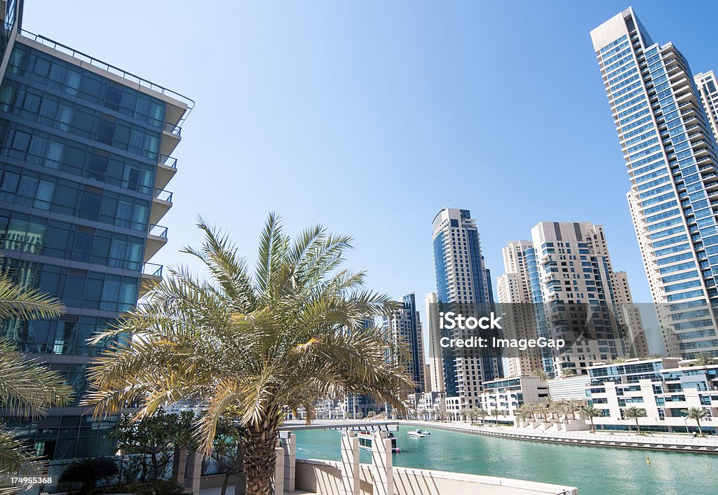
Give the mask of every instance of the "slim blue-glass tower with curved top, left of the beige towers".
[[[470, 211], [442, 209], [434, 217], [433, 230], [439, 310], [457, 305], [464, 310], [488, 310], [494, 302], [490, 272], [484, 264], [479, 231]], [[431, 322], [429, 329], [448, 331], [439, 330], [438, 325]], [[435, 337], [430, 336], [430, 339], [436, 340]], [[442, 348], [442, 368], [447, 407], [479, 407], [481, 384], [501, 376], [501, 359], [493, 349], [475, 351], [445, 347]]]

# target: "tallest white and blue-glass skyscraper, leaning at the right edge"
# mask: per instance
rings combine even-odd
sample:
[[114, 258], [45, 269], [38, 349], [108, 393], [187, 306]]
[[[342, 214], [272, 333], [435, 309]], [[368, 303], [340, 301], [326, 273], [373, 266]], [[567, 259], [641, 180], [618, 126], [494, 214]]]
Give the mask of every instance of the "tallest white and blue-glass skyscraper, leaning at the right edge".
[[686, 58], [627, 9], [591, 32], [670, 356], [718, 356], [718, 150]]

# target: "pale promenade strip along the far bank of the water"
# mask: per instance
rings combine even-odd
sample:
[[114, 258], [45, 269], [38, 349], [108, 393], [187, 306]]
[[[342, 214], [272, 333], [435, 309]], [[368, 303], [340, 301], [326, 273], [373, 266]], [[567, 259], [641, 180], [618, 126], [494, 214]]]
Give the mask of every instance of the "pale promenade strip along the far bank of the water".
[[683, 435], [635, 435], [609, 432], [559, 432], [504, 426], [477, 426], [467, 422], [399, 421], [400, 425], [439, 428], [474, 435], [488, 435], [533, 442], [596, 445], [612, 448], [641, 448], [673, 452], [718, 453], [718, 437], [694, 438]]

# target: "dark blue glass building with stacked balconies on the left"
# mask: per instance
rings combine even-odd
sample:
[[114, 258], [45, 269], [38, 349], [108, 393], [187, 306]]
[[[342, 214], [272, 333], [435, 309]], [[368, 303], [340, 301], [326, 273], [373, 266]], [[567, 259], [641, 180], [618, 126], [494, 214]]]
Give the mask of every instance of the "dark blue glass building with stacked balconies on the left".
[[[2, 269], [67, 306], [52, 321], [0, 322], [0, 335], [67, 374], [70, 407], [37, 422], [7, 418], [38, 455], [108, 453], [112, 421], [93, 422], [78, 399], [98, 348], [95, 331], [136, 305], [149, 263], [167, 242], [170, 155], [188, 98], [20, 27], [6, 2], [0, 84]], [[13, 20], [12, 23], [9, 21]]]

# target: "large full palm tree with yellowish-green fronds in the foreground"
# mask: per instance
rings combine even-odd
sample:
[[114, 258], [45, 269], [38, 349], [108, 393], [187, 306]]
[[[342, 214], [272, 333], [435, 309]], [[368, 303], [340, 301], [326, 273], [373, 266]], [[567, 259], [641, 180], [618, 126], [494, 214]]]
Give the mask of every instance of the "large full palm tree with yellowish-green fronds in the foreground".
[[395, 344], [367, 318], [397, 307], [366, 290], [365, 272], [342, 269], [349, 236], [322, 226], [292, 241], [269, 215], [253, 274], [229, 236], [200, 218], [205, 240], [182, 251], [195, 256], [209, 279], [187, 267], [151, 287], [146, 304], [129, 311], [99, 343], [126, 333], [90, 369], [84, 404], [95, 417], [115, 415], [137, 401], [139, 415], [178, 400], [200, 400], [197, 440], [209, 453], [217, 421], [241, 411], [246, 431], [244, 470], [249, 495], [266, 495], [274, 474], [279, 427], [303, 408], [307, 422], [325, 397], [371, 395], [399, 414], [400, 397], [414, 388]]

